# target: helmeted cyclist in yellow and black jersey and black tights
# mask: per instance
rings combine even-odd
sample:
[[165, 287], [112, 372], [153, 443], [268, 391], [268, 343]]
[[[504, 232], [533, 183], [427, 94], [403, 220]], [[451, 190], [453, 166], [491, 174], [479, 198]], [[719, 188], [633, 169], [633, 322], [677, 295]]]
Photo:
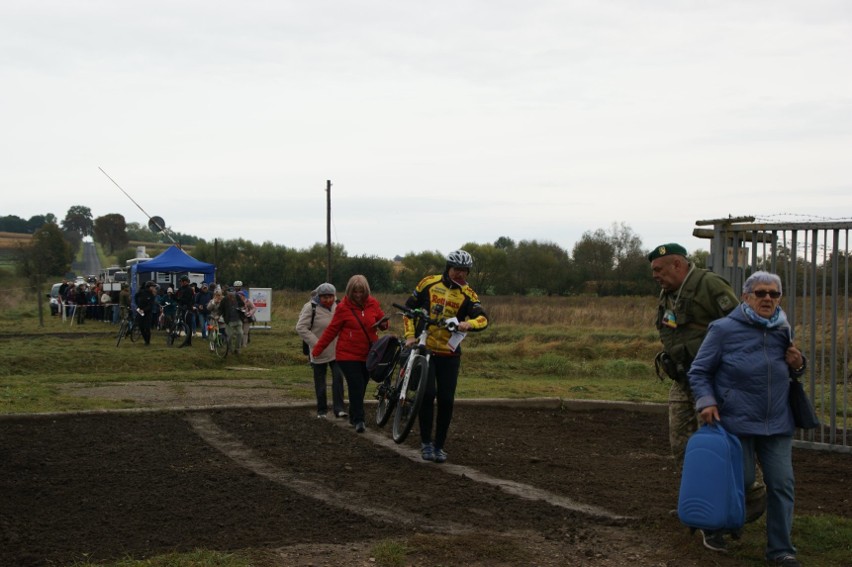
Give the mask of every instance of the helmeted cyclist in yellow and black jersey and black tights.
[[[408, 298], [405, 305], [411, 309], [428, 310], [433, 318], [456, 317], [460, 332], [481, 331], [488, 326], [488, 315], [479, 303], [476, 292], [467, 284], [467, 276], [473, 267], [473, 258], [464, 250], [454, 250], [447, 255], [447, 265], [442, 274], [426, 276]], [[403, 319], [405, 345], [417, 342], [419, 329], [414, 321]], [[453, 419], [453, 404], [456, 397], [461, 347], [450, 348], [451, 333], [447, 329], [434, 329], [426, 347], [432, 351], [429, 364], [429, 383], [426, 397], [420, 407], [420, 449], [423, 460], [443, 463], [447, 460], [444, 444], [450, 421]], [[437, 398], [437, 416], [433, 410]], [[435, 422], [435, 438], [432, 439], [432, 424]]]

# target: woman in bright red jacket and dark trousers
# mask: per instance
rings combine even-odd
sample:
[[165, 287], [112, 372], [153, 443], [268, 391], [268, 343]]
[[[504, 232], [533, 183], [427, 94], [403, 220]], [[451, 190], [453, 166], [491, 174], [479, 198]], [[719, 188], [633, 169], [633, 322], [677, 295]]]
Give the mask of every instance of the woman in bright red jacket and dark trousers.
[[[337, 306], [331, 323], [323, 331], [311, 353], [319, 356], [337, 337], [335, 360], [349, 386], [349, 423], [363, 433], [364, 394], [370, 377], [367, 374], [367, 353], [379, 336], [376, 328], [387, 330], [388, 322], [379, 302], [370, 295], [370, 284], [362, 275], [349, 278], [343, 300]], [[381, 322], [380, 322], [381, 321]], [[379, 323], [380, 322], [380, 323]], [[376, 325], [378, 323], [378, 325]]]

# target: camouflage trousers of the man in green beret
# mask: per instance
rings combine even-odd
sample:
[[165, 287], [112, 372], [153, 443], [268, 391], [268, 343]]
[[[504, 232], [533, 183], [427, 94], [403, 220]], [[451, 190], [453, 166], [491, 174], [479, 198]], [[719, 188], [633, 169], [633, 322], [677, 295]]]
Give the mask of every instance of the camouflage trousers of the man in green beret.
[[[690, 435], [698, 431], [701, 422], [695, 411], [692, 392], [672, 381], [669, 389], [669, 445], [675, 459], [677, 474], [683, 470], [683, 455]], [[746, 487], [746, 521], [753, 522], [766, 510], [766, 485], [763, 471], [755, 462], [754, 483]]]

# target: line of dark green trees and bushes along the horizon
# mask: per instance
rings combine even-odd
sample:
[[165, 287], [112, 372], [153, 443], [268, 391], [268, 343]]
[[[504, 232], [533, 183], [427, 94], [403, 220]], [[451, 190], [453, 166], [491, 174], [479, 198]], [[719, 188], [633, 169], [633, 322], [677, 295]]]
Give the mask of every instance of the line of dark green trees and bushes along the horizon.
[[[71, 207], [57, 222], [53, 215], [29, 220], [0, 217], [0, 231], [33, 234], [32, 249], [20, 255], [24, 274], [64, 275], [91, 236], [119, 265], [136, 255], [132, 242], [164, 242], [138, 223], [126, 223], [120, 214], [93, 218], [84, 206]], [[40, 223], [40, 224], [39, 224]], [[240, 279], [248, 286], [310, 290], [326, 280], [328, 249], [317, 243], [307, 249], [242, 239], [213, 240], [170, 233], [171, 239], [191, 246], [191, 255], [216, 266], [222, 282]], [[171, 240], [170, 239], [170, 240]], [[584, 233], [568, 251], [548, 241], [500, 237], [493, 243], [460, 244], [470, 252], [474, 267], [470, 283], [485, 295], [645, 295], [657, 292], [651, 280], [647, 251], [639, 236], [624, 223], [608, 230]], [[343, 287], [352, 274], [364, 274], [377, 292], [404, 293], [426, 274], [439, 273], [448, 251], [409, 253], [392, 260], [369, 255], [350, 256], [343, 245], [332, 246], [331, 279]]]

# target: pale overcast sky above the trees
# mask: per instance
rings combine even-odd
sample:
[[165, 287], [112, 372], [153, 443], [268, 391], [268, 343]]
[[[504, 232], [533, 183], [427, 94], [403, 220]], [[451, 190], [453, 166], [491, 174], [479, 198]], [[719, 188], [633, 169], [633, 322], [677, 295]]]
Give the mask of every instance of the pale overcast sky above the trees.
[[0, 5], [0, 216], [350, 255], [852, 218], [848, 0]]

